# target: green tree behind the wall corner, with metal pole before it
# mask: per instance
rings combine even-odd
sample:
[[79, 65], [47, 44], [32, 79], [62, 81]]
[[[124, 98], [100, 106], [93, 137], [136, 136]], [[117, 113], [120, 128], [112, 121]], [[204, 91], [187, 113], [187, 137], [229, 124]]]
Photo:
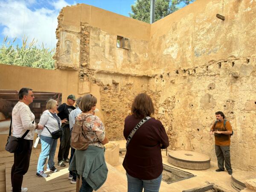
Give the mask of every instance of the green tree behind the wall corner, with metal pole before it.
[[[177, 11], [183, 6], [194, 2], [195, 0], [155, 0], [155, 21]], [[150, 0], [137, 0], [134, 5], [131, 5], [132, 13], [130, 17], [150, 22]]]

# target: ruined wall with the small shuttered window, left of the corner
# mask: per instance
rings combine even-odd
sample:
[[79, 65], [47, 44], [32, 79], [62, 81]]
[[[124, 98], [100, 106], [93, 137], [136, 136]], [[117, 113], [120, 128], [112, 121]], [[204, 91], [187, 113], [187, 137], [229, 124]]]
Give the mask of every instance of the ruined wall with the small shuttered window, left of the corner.
[[[56, 67], [79, 71], [79, 95], [95, 95], [108, 137], [123, 139], [131, 101], [151, 78], [150, 24], [81, 4], [61, 10], [56, 36]], [[128, 38], [128, 49], [116, 46], [117, 36]]]

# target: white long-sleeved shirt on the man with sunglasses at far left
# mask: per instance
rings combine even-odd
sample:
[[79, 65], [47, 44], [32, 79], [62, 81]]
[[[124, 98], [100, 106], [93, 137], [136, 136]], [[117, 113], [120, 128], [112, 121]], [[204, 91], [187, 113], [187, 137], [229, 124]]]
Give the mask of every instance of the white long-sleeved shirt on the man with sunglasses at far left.
[[22, 137], [26, 130], [31, 130], [24, 139], [34, 140], [35, 133], [35, 115], [30, 111], [28, 105], [23, 102], [17, 102], [12, 110], [12, 136]]

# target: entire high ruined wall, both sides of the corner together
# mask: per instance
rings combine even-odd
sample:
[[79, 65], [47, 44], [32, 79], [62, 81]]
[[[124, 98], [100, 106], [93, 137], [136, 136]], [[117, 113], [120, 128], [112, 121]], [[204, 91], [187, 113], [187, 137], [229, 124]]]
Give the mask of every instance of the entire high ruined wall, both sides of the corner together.
[[[58, 17], [56, 68], [79, 71], [78, 95], [96, 94], [110, 140], [124, 139], [131, 102], [145, 92], [170, 149], [216, 161], [209, 129], [223, 111], [234, 129], [233, 168], [256, 170], [255, 13], [256, 0], [196, 0], [148, 31], [143, 22], [95, 7], [66, 7]], [[130, 49], [116, 47], [117, 35], [129, 38]]]

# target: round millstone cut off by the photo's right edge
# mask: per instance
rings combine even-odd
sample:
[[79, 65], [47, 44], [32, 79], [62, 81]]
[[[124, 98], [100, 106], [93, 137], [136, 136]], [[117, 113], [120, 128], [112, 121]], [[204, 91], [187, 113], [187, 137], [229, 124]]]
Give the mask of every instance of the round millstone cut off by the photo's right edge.
[[249, 172], [249, 171], [234, 172], [231, 175], [231, 185], [234, 189], [236, 189], [237, 191], [240, 191], [246, 188], [244, 184], [246, 180], [255, 179], [255, 178], [256, 178], [256, 172]]

